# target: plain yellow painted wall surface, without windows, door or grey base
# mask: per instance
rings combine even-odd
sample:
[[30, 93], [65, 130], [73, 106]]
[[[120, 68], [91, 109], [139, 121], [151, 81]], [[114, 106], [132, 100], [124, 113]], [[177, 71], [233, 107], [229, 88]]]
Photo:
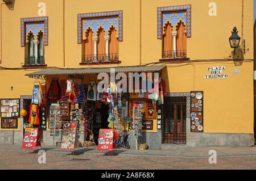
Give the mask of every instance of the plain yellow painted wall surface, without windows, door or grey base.
[[[5, 4], [2, 5], [0, 66], [22, 68], [24, 47], [20, 47], [20, 18], [37, 17], [39, 2], [42, 1], [16, 0], [13, 10]], [[242, 36], [242, 0], [215, 0], [217, 16], [208, 15], [208, 5], [212, 2], [210, 0], [142, 0], [141, 12], [138, 0], [65, 0], [65, 27], [63, 0], [43, 2], [46, 3], [46, 16], [49, 17], [49, 45], [45, 47], [48, 67], [63, 68], [64, 63], [65, 68], [89, 67], [79, 65], [82, 45], [77, 44], [77, 14], [80, 13], [123, 11], [123, 41], [119, 42], [121, 64], [90, 67], [139, 65], [140, 52], [142, 65], [159, 62], [162, 40], [157, 39], [157, 7], [188, 4], [192, 6], [192, 37], [187, 39], [187, 56], [192, 62], [228, 58], [232, 50], [228, 38], [234, 26]], [[249, 48], [246, 59], [253, 59], [253, 6], [253, 0], [244, 1], [243, 38], [246, 40], [246, 48]], [[203, 61], [192, 64], [185, 62], [167, 66], [168, 68], [163, 70], [163, 77], [168, 83], [169, 92], [204, 91], [204, 132], [253, 133], [253, 62], [244, 61], [241, 66], [235, 66], [233, 61]], [[229, 74], [229, 78], [205, 79], [208, 66], [226, 66], [225, 73]], [[234, 75], [234, 69], [239, 69], [240, 74]], [[34, 79], [25, 77], [24, 74], [36, 70], [39, 69], [0, 70], [0, 98], [30, 95]], [[11, 86], [14, 86], [13, 91], [10, 90]], [[155, 127], [156, 124], [154, 131]]]

